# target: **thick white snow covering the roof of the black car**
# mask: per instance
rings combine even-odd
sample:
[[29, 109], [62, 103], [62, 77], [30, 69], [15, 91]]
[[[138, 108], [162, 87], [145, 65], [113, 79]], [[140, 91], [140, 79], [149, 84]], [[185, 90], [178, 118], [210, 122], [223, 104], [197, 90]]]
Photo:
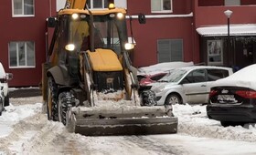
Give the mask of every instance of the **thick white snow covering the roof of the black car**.
[[221, 78], [212, 84], [217, 86], [236, 86], [244, 88], [252, 88], [256, 90], [256, 64], [243, 67], [227, 78]]

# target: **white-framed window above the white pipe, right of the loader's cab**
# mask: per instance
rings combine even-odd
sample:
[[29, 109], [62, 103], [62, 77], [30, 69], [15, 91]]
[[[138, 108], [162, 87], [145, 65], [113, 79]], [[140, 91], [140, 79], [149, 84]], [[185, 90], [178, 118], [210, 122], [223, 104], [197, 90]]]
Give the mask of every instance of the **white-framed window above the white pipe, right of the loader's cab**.
[[172, 13], [173, 1], [172, 0], [151, 0], [152, 13]]

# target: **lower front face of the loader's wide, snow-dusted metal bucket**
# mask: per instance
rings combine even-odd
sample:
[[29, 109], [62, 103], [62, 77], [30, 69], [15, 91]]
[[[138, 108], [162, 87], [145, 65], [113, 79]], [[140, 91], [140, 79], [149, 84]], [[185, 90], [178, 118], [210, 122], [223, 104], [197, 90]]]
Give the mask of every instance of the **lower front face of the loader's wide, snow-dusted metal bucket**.
[[84, 119], [75, 132], [86, 136], [148, 135], [176, 133], [176, 118], [155, 119]]

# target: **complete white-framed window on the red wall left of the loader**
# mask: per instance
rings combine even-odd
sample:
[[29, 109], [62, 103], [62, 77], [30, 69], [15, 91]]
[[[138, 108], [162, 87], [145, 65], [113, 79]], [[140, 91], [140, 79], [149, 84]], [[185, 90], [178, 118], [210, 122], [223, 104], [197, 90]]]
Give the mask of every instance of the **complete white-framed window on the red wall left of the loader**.
[[35, 43], [10, 42], [9, 67], [35, 67]]

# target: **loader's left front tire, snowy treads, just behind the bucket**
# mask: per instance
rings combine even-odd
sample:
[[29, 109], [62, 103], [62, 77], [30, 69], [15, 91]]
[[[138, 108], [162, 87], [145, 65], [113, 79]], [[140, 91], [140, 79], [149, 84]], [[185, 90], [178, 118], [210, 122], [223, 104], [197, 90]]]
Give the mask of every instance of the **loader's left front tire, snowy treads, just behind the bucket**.
[[67, 124], [67, 114], [69, 106], [75, 105], [74, 96], [69, 92], [61, 92], [59, 93], [58, 98], [58, 111], [59, 111], [59, 121], [62, 122], [65, 126]]

